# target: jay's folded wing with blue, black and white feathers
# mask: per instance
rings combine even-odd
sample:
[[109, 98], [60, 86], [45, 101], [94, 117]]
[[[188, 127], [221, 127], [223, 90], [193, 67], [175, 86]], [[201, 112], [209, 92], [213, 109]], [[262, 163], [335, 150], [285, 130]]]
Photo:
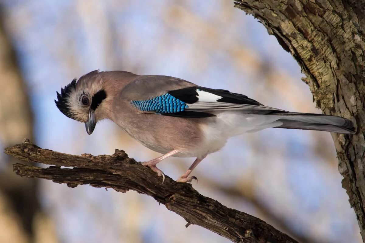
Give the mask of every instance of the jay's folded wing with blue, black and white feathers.
[[[130, 103], [146, 113], [180, 117], [211, 117], [214, 111], [250, 110], [257, 113], [286, 112], [266, 107], [245, 95], [224, 89], [210, 89], [166, 76], [142, 79], [129, 89]], [[162, 78], [161, 80], [161, 77]], [[182, 86], [177, 88], [177, 86]], [[127, 93], [124, 92], [125, 95]], [[261, 111], [261, 112], [260, 112]]]

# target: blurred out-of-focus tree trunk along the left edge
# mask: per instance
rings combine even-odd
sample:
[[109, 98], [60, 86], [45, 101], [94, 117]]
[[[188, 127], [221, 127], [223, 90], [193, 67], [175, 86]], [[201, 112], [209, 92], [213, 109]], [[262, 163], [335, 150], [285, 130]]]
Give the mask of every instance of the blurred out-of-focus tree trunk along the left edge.
[[[27, 87], [2, 18], [0, 74], [0, 143], [5, 147], [25, 137], [33, 139], [34, 123]], [[38, 201], [39, 181], [14, 174], [11, 165], [18, 159], [4, 156], [0, 159], [0, 225], [5, 226], [0, 227], [0, 242], [53, 242], [54, 235], [51, 236], [48, 219]]]

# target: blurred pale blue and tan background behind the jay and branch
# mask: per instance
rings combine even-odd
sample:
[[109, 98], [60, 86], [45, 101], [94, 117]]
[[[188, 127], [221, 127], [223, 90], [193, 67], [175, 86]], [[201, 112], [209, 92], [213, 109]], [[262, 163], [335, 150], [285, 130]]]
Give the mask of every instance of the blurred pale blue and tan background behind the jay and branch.
[[[102, 121], [92, 136], [54, 104], [92, 70], [183, 78], [281, 109], [321, 113], [290, 54], [227, 0], [0, 0], [0, 146], [23, 138], [63, 153], [137, 161], [159, 154]], [[160, 168], [176, 179], [194, 158]], [[228, 242], [136, 192], [20, 178], [0, 153], [0, 242]], [[328, 132], [268, 129], [232, 138], [193, 187], [300, 242], [361, 242]], [[217, 179], [218, 178], [218, 179]]]

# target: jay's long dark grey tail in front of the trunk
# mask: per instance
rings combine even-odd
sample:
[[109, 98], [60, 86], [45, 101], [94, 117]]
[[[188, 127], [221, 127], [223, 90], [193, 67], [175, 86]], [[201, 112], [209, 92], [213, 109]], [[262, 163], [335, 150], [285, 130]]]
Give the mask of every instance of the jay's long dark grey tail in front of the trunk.
[[276, 128], [317, 130], [344, 134], [355, 133], [352, 121], [339, 116], [298, 112], [280, 112], [272, 115], [279, 116], [277, 121], [281, 121], [283, 123]]

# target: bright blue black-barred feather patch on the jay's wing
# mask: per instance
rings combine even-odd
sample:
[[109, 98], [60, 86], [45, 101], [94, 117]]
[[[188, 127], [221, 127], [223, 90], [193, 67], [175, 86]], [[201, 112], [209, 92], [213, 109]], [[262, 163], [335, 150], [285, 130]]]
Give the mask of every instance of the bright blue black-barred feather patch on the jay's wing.
[[156, 113], [174, 113], [188, 108], [185, 102], [173, 97], [169, 93], [149, 100], [132, 100], [131, 104], [140, 111], [155, 111]]

